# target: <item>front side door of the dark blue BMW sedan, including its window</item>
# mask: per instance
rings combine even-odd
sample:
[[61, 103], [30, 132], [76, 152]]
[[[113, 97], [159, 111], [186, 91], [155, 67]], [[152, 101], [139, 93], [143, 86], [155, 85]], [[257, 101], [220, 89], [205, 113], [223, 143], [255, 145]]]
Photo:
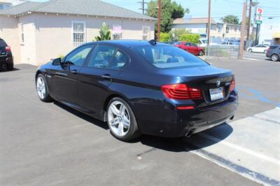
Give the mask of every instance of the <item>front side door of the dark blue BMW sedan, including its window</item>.
[[52, 86], [60, 101], [78, 103], [77, 78], [92, 45], [84, 45], [69, 53], [60, 66], [52, 72]]

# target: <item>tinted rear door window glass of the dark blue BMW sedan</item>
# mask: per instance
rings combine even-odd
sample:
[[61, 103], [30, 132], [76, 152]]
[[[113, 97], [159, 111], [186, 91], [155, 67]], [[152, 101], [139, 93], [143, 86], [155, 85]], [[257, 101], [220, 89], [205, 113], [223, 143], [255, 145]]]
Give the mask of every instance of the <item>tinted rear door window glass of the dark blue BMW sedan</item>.
[[117, 49], [111, 46], [98, 45], [94, 52], [92, 52], [87, 66], [94, 68], [109, 67], [109, 64], [112, 61], [116, 51]]

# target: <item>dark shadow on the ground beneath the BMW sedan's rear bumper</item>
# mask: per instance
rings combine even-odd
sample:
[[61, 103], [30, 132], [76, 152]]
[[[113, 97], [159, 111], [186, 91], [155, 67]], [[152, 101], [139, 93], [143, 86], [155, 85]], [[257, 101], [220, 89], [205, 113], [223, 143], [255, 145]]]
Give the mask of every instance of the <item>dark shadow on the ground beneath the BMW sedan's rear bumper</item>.
[[[233, 129], [232, 127], [230, 127], [230, 124], [225, 123], [218, 127], [208, 129], [207, 131], [193, 134], [193, 136], [190, 136], [189, 138], [162, 138], [143, 135], [137, 140], [131, 141], [130, 143], [140, 142], [143, 145], [151, 147], [151, 150], [142, 152], [140, 155], [144, 155], [147, 152], [151, 152], [156, 149], [166, 150], [169, 152], [189, 152], [219, 143], [220, 141], [223, 141], [225, 138], [230, 136], [230, 134], [232, 134], [232, 131]], [[215, 141], [209, 138], [205, 138], [205, 135], [214, 137]]]

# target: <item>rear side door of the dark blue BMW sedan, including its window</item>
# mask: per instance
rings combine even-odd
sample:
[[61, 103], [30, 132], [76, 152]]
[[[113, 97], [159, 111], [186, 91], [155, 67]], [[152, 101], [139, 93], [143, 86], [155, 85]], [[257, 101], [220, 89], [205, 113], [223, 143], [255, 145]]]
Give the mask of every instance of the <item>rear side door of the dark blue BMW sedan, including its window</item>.
[[102, 114], [104, 96], [109, 92], [109, 85], [122, 72], [129, 57], [111, 45], [97, 45], [92, 50], [87, 64], [78, 75], [79, 103], [85, 112], [99, 117]]

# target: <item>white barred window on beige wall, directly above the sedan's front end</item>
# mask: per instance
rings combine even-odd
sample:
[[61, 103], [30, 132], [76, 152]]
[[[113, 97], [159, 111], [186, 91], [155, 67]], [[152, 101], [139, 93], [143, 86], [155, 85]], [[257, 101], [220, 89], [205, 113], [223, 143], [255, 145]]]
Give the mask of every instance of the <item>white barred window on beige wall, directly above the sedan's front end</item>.
[[85, 22], [72, 22], [72, 32], [75, 47], [85, 43]]

